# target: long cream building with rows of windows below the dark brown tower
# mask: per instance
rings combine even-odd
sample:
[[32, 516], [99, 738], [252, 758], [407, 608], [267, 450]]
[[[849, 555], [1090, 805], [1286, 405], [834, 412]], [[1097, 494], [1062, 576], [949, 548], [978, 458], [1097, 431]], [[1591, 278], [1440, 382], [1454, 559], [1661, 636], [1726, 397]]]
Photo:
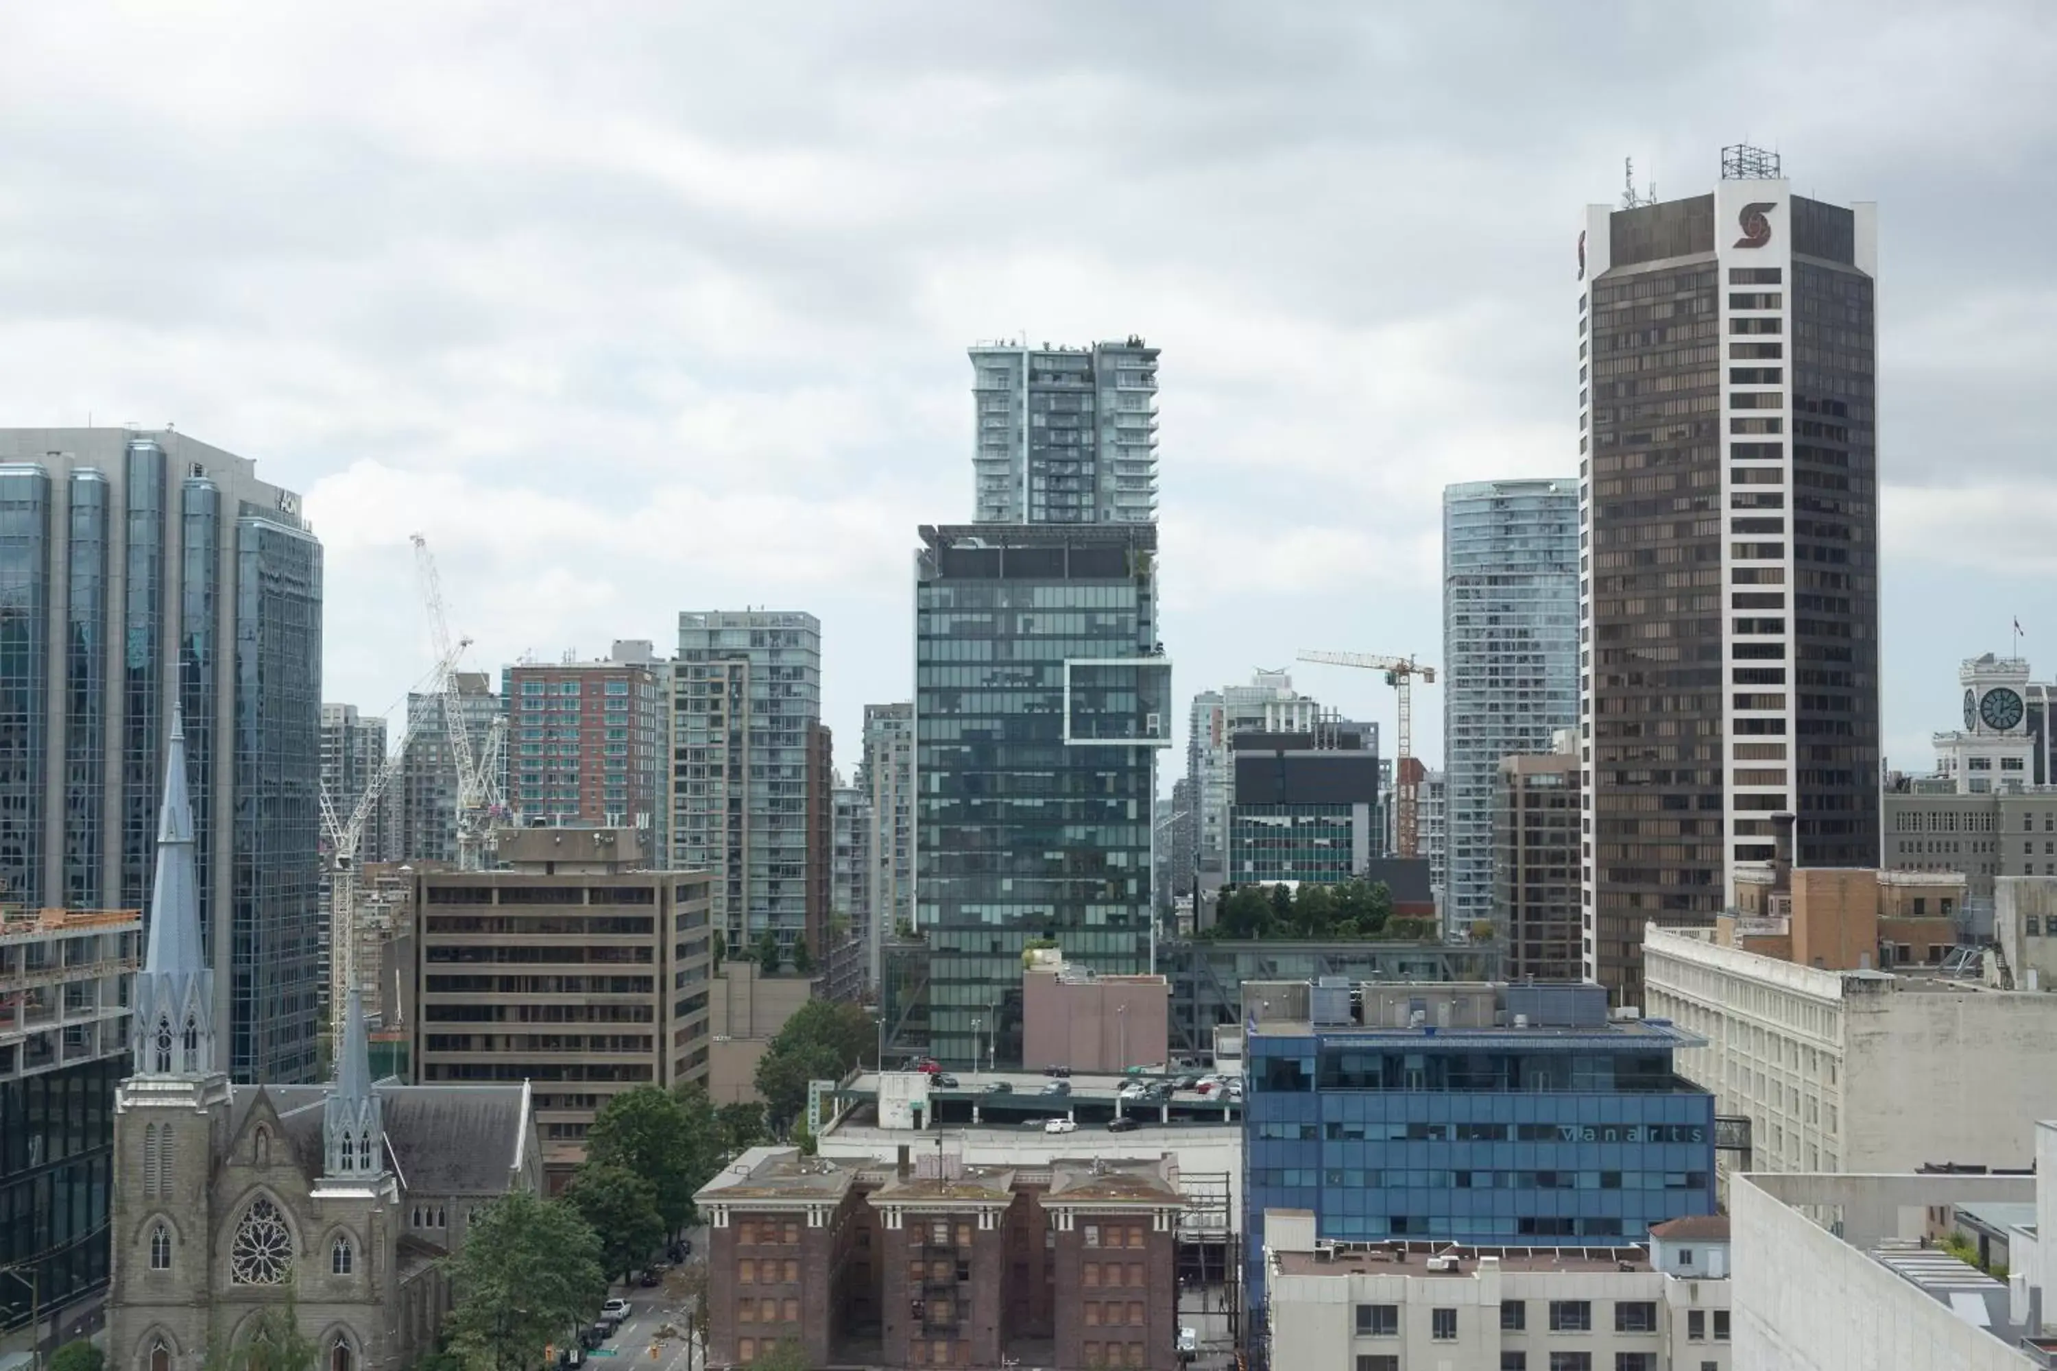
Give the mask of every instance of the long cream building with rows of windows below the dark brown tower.
[[1679, 1073], [1751, 1122], [1742, 1172], [2028, 1165], [2057, 1116], [2057, 995], [1878, 970], [1820, 970], [1652, 925], [1646, 1013], [1707, 1040]]

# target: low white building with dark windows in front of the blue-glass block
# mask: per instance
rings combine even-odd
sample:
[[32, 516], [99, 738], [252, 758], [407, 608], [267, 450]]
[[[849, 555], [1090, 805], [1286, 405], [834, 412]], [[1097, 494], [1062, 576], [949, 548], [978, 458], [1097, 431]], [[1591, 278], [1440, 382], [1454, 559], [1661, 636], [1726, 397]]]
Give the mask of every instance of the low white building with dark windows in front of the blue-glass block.
[[1269, 1365], [1415, 1371], [1728, 1371], [1728, 1219], [1674, 1219], [1648, 1248], [1316, 1242], [1265, 1213]]

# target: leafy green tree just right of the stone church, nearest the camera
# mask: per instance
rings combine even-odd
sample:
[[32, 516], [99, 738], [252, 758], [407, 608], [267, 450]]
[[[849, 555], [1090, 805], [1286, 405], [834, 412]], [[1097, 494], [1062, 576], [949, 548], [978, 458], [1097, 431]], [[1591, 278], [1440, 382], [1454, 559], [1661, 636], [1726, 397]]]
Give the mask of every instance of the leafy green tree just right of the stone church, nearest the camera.
[[446, 1270], [457, 1297], [448, 1350], [475, 1371], [539, 1367], [543, 1348], [607, 1297], [599, 1235], [570, 1205], [529, 1190], [475, 1211]]

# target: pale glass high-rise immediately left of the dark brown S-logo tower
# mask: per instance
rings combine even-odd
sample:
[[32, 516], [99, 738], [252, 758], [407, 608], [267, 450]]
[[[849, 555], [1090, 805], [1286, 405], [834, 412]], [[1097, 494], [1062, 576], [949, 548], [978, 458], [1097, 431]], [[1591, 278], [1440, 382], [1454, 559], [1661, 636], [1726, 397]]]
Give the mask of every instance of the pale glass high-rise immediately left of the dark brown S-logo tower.
[[1500, 758], [1578, 721], [1578, 479], [1442, 491], [1444, 923], [1491, 923]]

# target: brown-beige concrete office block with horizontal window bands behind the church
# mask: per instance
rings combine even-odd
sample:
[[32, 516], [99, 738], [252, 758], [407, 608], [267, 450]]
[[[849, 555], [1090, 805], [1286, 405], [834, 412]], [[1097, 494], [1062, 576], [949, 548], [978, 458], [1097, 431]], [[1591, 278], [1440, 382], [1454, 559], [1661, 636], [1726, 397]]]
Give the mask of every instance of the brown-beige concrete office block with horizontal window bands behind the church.
[[504, 869], [416, 878], [416, 1081], [531, 1081], [553, 1190], [611, 1096], [708, 1077], [708, 876], [646, 843], [510, 828]]

